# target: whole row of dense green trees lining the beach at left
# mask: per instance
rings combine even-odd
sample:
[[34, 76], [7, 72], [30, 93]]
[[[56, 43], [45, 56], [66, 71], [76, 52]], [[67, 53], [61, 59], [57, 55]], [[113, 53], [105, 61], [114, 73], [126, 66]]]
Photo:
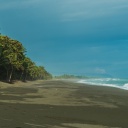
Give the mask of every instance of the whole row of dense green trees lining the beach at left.
[[0, 80], [49, 79], [51, 74], [26, 56], [22, 43], [0, 35]]

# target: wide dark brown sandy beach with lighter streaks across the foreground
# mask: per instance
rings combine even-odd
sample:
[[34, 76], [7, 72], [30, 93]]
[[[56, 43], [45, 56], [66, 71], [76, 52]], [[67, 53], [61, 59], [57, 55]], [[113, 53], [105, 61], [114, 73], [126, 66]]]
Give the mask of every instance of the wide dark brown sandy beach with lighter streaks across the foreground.
[[128, 91], [64, 80], [0, 82], [0, 128], [128, 128]]

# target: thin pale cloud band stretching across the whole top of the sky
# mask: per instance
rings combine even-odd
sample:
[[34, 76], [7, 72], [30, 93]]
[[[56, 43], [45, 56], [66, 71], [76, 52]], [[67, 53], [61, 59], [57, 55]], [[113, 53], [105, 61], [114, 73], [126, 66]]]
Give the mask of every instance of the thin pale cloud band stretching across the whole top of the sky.
[[[128, 7], [127, 0], [6, 0], [0, 10], [33, 6], [35, 11], [45, 9], [50, 14], [58, 14], [61, 21], [76, 21], [120, 13]], [[55, 12], [55, 13], [52, 13]], [[38, 12], [39, 13], [39, 12]]]

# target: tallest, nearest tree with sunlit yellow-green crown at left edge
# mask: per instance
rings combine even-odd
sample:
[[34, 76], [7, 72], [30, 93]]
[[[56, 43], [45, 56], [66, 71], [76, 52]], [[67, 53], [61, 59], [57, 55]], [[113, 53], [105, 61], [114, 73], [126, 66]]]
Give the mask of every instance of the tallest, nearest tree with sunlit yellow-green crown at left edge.
[[0, 36], [0, 44], [2, 49], [0, 59], [7, 71], [7, 81], [10, 82], [14, 68], [18, 69], [22, 64], [21, 58], [25, 50], [20, 42], [7, 36]]

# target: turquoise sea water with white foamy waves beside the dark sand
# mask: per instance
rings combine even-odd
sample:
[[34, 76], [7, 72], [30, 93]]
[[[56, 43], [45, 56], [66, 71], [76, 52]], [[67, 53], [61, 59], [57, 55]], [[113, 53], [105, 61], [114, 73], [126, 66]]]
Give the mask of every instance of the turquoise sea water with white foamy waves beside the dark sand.
[[89, 85], [109, 86], [128, 90], [128, 79], [121, 78], [86, 78], [77, 81]]

